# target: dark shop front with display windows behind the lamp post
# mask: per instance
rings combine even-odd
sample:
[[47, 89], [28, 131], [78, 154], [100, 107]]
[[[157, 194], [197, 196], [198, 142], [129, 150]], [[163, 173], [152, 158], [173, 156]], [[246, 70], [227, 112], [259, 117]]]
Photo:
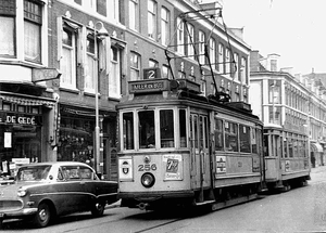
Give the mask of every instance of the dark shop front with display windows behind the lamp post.
[[100, 160], [95, 157], [95, 111], [60, 104], [58, 124], [58, 160], [82, 161], [96, 168], [110, 180], [116, 172], [116, 117], [115, 113], [100, 112]]

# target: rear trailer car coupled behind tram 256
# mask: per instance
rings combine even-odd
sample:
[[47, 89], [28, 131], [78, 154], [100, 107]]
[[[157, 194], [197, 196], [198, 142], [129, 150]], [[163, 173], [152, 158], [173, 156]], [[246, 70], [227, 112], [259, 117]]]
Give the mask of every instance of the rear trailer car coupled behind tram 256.
[[303, 186], [311, 179], [309, 139], [304, 132], [264, 127], [265, 183], [273, 192]]

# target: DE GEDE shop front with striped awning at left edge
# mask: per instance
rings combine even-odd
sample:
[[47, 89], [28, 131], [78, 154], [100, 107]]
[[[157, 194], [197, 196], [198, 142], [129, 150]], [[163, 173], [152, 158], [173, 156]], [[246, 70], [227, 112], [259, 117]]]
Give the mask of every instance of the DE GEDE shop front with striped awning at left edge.
[[49, 158], [47, 139], [52, 99], [0, 92], [0, 174], [11, 176], [20, 164]]

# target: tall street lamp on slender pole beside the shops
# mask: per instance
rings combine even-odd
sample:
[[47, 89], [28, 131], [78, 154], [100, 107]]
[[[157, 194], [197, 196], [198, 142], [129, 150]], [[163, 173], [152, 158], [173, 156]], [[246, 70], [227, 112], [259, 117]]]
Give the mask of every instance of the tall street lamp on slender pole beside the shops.
[[[99, 29], [97, 30], [97, 25], [99, 25]], [[97, 22], [95, 24], [95, 30], [93, 30], [93, 35], [95, 35], [95, 98], [96, 98], [96, 127], [95, 127], [95, 163], [96, 163], [96, 171], [99, 172], [100, 171], [100, 117], [99, 117], [99, 70], [98, 70], [98, 42], [97, 42], [97, 38], [99, 37], [99, 39], [104, 39], [105, 37], [109, 37], [109, 33], [105, 29], [104, 25], [102, 22]]]

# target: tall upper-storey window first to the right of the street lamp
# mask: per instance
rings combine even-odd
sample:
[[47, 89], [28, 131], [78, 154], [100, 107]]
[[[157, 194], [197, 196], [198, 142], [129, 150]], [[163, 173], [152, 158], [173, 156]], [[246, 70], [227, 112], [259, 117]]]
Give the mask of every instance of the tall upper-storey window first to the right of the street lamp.
[[111, 47], [111, 72], [109, 75], [109, 96], [120, 98], [120, 50], [116, 47]]

